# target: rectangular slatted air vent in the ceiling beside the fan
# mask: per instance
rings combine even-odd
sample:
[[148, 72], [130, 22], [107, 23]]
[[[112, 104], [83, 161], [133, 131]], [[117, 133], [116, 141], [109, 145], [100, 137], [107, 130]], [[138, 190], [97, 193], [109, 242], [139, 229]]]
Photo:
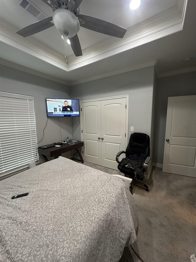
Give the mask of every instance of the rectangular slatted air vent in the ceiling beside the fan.
[[23, 7], [25, 10], [27, 10], [30, 14], [32, 14], [40, 21], [48, 17], [47, 14], [45, 14], [39, 7], [31, 3], [30, 1], [23, 0], [20, 3], [20, 6]]

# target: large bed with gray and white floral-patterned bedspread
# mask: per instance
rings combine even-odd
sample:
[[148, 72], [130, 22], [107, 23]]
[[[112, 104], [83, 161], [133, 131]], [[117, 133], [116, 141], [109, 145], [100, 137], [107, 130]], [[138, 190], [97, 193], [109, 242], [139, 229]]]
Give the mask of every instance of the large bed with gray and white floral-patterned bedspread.
[[118, 262], [137, 227], [124, 182], [70, 159], [0, 181], [0, 261]]

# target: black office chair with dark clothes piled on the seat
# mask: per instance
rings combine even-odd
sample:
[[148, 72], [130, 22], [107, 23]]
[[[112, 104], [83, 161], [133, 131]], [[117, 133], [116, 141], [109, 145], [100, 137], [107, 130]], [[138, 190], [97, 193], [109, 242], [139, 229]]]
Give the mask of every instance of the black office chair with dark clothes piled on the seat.
[[[123, 158], [119, 162], [119, 156], [125, 154], [126, 158]], [[131, 194], [133, 190], [133, 184], [139, 183], [145, 187], [146, 191], [149, 191], [148, 186], [141, 181], [144, 178], [144, 172], [147, 169], [150, 161], [150, 138], [149, 135], [144, 133], [133, 133], [130, 135], [129, 144], [126, 151], [120, 151], [116, 155], [116, 162], [118, 169], [126, 177], [132, 178], [133, 182], [130, 186]]]

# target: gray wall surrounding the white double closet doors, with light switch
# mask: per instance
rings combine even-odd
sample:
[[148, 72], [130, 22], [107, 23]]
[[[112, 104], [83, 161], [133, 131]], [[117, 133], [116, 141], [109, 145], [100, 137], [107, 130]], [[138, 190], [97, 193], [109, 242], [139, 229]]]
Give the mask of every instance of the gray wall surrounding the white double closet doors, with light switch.
[[[90, 100], [111, 96], [129, 95], [129, 133], [144, 132], [151, 135], [154, 67], [146, 67], [115, 76], [72, 86], [71, 96]], [[74, 138], [81, 139], [80, 120], [74, 119]]]

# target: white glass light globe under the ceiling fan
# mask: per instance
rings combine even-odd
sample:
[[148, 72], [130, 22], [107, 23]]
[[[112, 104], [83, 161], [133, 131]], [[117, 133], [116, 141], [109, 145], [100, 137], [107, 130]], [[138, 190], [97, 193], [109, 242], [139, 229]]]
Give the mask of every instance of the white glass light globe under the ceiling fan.
[[57, 9], [52, 15], [52, 20], [58, 32], [66, 37], [74, 37], [79, 29], [80, 23], [77, 17], [66, 9]]

